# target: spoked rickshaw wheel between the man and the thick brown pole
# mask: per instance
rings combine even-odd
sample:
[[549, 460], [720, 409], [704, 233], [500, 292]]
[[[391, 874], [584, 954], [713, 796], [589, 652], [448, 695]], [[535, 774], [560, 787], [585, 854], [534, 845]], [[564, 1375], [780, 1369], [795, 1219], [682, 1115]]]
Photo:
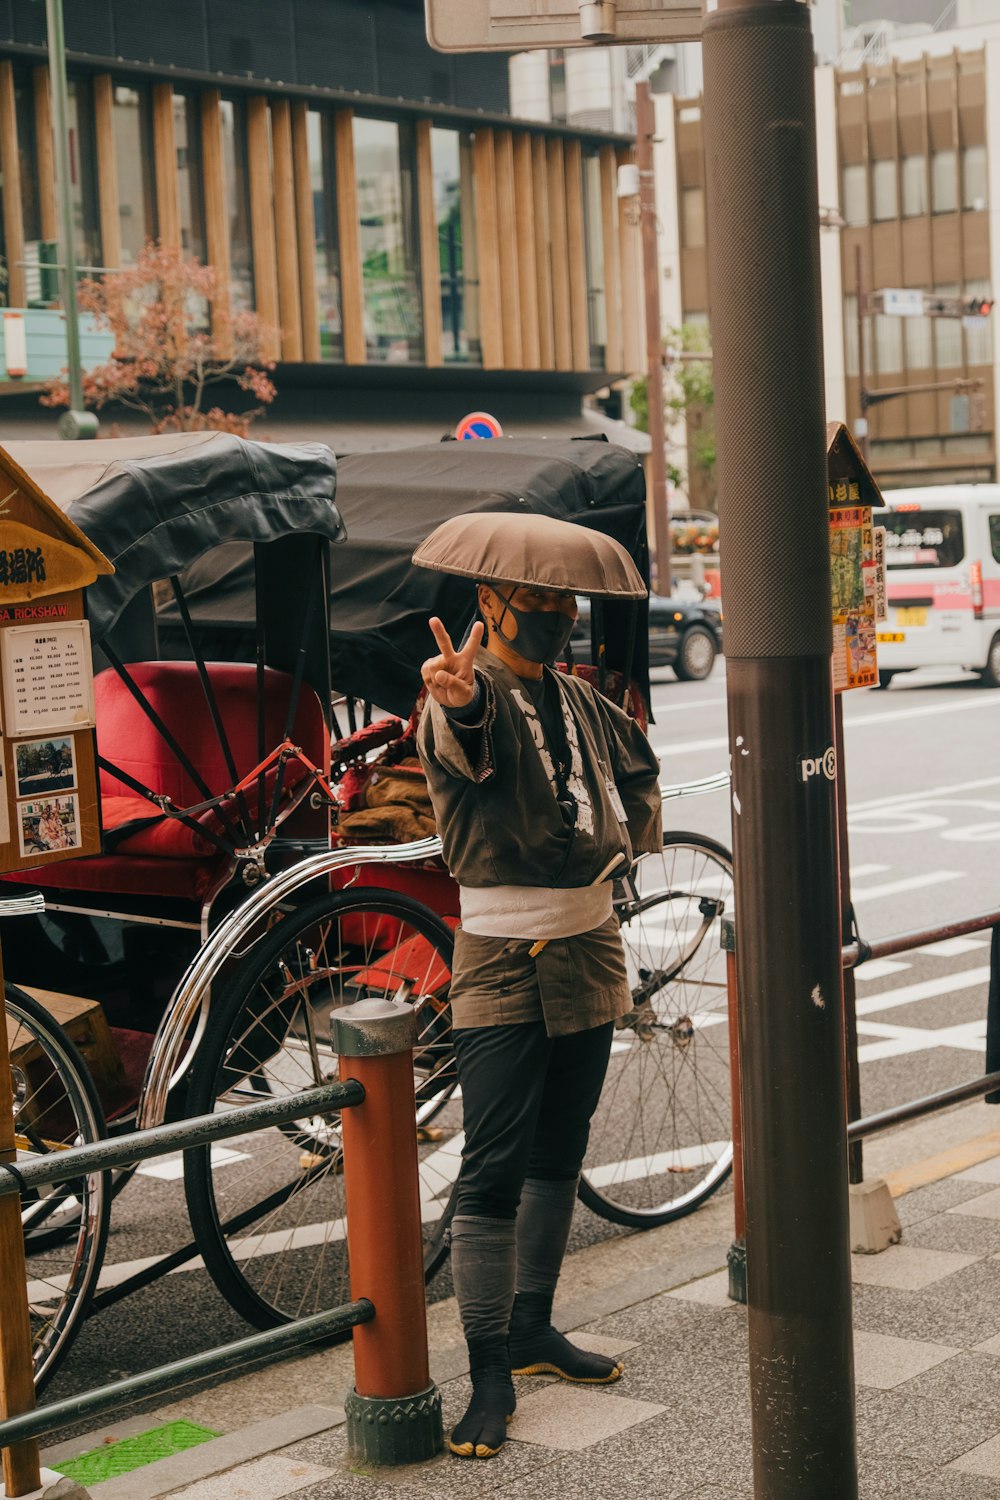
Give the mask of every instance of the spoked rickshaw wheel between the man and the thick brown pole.
[[615, 1224], [651, 1228], [699, 1208], [732, 1170], [723, 914], [733, 861], [700, 834], [643, 855], [616, 910], [634, 1008], [622, 1017], [580, 1180]]

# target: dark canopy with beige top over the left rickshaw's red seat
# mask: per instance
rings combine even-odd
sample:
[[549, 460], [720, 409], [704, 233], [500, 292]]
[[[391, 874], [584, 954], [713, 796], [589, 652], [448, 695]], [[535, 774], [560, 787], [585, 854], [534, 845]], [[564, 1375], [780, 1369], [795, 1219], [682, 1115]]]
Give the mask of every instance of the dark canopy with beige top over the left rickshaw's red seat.
[[295, 532], [345, 537], [334, 504], [336, 459], [322, 442], [178, 432], [4, 447], [114, 564], [87, 591], [94, 642], [150, 584], [183, 573], [223, 543]]

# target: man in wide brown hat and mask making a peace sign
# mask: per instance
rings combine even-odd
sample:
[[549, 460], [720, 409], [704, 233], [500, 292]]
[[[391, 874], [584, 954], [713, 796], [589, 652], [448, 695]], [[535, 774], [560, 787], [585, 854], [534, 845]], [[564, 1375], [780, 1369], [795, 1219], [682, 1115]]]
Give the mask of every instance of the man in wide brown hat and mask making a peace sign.
[[564, 1338], [552, 1302], [615, 1022], [633, 1010], [612, 880], [663, 846], [660, 766], [634, 720], [549, 663], [577, 592], [646, 590], [618, 543], [535, 514], [453, 518], [414, 562], [472, 579], [481, 615], [462, 648], [430, 620], [418, 752], [462, 898], [451, 1269], [472, 1400], [448, 1446], [493, 1458], [513, 1374], [622, 1372]]

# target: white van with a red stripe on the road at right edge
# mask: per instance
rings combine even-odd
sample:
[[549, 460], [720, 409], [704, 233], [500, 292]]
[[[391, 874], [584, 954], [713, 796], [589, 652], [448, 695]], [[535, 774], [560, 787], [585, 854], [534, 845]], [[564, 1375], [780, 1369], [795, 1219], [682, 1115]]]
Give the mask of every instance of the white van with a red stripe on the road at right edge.
[[897, 489], [886, 501], [874, 513], [886, 528], [882, 687], [919, 666], [967, 668], [1000, 687], [1000, 484]]

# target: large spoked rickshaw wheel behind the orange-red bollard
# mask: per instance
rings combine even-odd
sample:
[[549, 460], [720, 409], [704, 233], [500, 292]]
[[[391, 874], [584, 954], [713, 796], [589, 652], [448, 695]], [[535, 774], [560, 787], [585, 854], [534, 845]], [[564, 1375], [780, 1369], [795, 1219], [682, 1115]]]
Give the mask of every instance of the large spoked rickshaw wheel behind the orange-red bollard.
[[[189, 1108], [229, 1110], [337, 1076], [330, 1011], [376, 996], [420, 1018], [414, 1053], [424, 1268], [444, 1230], [462, 1149], [451, 1050], [451, 932], [427, 908], [382, 890], [322, 894], [280, 920], [213, 998]], [[433, 1122], [433, 1124], [430, 1124]], [[226, 1300], [274, 1328], [349, 1298], [339, 1112], [184, 1156], [190, 1221]]]

